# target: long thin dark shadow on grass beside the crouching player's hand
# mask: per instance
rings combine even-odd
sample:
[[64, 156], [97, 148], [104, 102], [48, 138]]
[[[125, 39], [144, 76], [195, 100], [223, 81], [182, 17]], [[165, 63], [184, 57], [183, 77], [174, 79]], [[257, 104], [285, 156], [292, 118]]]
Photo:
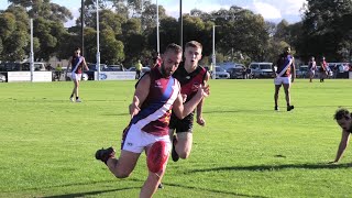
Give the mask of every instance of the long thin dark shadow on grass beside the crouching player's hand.
[[254, 165], [254, 166], [228, 166], [204, 169], [193, 169], [189, 173], [250, 170], [250, 172], [275, 172], [280, 169], [338, 169], [350, 168], [350, 164], [282, 164], [282, 165]]

